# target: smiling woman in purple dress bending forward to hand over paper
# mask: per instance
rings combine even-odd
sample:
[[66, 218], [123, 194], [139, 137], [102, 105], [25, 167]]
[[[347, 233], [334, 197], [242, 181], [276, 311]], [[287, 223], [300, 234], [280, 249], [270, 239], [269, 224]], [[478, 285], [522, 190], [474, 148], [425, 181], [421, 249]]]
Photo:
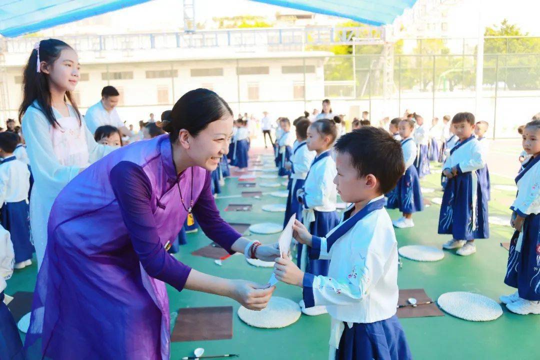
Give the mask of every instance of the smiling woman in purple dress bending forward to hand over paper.
[[231, 108], [197, 89], [174, 105], [168, 134], [120, 148], [60, 192], [38, 274], [29, 358], [168, 359], [165, 283], [264, 309], [274, 287], [200, 273], [167, 254], [188, 216], [228, 252], [273, 261], [219, 215], [210, 173], [228, 152]]

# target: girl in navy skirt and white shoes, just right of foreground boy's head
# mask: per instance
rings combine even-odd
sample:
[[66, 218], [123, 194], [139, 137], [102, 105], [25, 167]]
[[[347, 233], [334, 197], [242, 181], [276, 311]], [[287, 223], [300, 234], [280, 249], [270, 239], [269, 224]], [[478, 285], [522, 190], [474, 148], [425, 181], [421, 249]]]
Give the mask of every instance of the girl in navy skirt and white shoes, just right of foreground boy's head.
[[386, 207], [388, 209], [400, 209], [403, 214], [401, 218], [392, 222], [397, 228], [413, 227], [413, 213], [424, 209], [420, 179], [414, 166], [416, 144], [411, 138], [413, 129], [413, 120], [403, 119], [400, 121], [399, 132], [402, 138], [401, 147], [406, 171], [397, 182], [397, 186], [387, 194]]

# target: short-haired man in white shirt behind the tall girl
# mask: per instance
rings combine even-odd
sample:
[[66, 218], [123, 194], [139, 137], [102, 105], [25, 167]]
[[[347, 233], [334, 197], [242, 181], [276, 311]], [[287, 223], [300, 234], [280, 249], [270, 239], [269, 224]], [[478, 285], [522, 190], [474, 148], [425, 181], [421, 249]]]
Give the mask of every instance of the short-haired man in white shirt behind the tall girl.
[[84, 120], [86, 126], [93, 134], [96, 129], [103, 125], [117, 127], [124, 136], [132, 137], [133, 133], [126, 127], [116, 111], [120, 94], [114, 86], [105, 86], [102, 90], [102, 99], [86, 110]]

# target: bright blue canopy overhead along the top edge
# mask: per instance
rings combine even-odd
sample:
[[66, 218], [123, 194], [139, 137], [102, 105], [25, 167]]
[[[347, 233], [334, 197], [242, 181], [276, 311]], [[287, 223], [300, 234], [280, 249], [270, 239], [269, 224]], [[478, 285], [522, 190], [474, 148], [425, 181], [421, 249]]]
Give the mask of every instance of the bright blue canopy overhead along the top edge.
[[[4, 0], [0, 2], [0, 34], [15, 37], [52, 26], [100, 15], [149, 0]], [[353, 19], [391, 24], [416, 0], [254, 0]]]

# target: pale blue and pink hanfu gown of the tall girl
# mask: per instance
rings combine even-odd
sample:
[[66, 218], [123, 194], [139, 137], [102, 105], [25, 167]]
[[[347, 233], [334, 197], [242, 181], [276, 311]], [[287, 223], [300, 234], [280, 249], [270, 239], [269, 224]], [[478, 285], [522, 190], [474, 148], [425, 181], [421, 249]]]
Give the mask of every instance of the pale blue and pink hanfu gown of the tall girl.
[[59, 126], [53, 127], [39, 110], [37, 101], [23, 117], [23, 133], [34, 184], [30, 199], [30, 226], [36, 248], [38, 268], [47, 243], [47, 222], [56, 196], [82, 168], [104, 157], [114, 148], [99, 145], [86, 127], [84, 119], [68, 104], [69, 116], [53, 108]]

